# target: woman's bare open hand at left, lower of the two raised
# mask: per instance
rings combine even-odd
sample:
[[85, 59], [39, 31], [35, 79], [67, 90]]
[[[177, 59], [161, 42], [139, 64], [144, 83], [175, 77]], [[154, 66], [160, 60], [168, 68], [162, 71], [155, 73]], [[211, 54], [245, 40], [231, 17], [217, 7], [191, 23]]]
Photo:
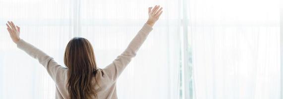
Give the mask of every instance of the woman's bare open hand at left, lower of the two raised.
[[7, 25], [7, 30], [10, 33], [10, 37], [13, 40], [15, 44], [17, 44], [18, 41], [20, 41], [20, 27], [15, 26], [15, 24], [11, 21], [8, 21], [6, 23]]

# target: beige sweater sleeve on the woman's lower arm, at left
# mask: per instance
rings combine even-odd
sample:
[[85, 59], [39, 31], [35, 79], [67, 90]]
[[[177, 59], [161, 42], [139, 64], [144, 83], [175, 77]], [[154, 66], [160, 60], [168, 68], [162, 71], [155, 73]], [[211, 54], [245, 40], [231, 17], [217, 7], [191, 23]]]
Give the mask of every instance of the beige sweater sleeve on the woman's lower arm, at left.
[[50, 57], [40, 49], [37, 49], [36, 47], [32, 46], [31, 44], [25, 42], [24, 40], [20, 40], [17, 42], [17, 47], [19, 49], [22, 49], [27, 54], [32, 56], [33, 58], [37, 59], [40, 64], [42, 64], [48, 71], [51, 78], [56, 82], [60, 80], [60, 74], [62, 74], [67, 69], [65, 67], [60, 66], [53, 57]]

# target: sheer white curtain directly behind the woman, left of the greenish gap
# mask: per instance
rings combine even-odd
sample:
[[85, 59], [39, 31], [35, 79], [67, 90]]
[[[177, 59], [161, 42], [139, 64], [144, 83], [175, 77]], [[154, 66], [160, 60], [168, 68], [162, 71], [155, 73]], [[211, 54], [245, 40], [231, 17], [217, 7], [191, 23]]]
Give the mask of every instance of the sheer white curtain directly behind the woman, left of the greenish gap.
[[54, 99], [55, 84], [38, 61], [17, 49], [5, 28], [61, 65], [73, 37], [91, 41], [100, 68], [111, 63], [146, 22], [147, 7], [164, 13], [117, 81], [120, 99], [178, 99], [181, 0], [0, 0], [0, 99]]

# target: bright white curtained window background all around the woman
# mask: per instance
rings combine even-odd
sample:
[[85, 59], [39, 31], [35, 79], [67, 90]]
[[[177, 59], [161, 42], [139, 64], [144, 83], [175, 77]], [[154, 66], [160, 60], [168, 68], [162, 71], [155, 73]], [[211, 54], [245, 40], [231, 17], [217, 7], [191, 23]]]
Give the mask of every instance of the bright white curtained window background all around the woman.
[[86, 38], [104, 68], [154, 5], [163, 15], [119, 77], [119, 99], [281, 99], [280, 0], [0, 0], [0, 99], [55, 99], [8, 20], [62, 66], [68, 41]]

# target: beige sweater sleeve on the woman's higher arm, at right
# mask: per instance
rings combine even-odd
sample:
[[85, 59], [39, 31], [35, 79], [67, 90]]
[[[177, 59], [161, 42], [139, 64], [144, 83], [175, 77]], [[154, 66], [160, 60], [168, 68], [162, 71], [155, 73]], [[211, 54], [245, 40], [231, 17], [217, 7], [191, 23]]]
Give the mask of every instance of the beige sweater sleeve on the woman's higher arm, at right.
[[129, 64], [131, 59], [136, 56], [138, 49], [144, 43], [152, 30], [153, 29], [150, 25], [144, 24], [142, 29], [130, 42], [128, 47], [119, 56], [117, 56], [111, 64], [103, 69], [104, 74], [106, 74], [105, 76], [109, 77], [111, 81], [115, 82], [124, 68]]

